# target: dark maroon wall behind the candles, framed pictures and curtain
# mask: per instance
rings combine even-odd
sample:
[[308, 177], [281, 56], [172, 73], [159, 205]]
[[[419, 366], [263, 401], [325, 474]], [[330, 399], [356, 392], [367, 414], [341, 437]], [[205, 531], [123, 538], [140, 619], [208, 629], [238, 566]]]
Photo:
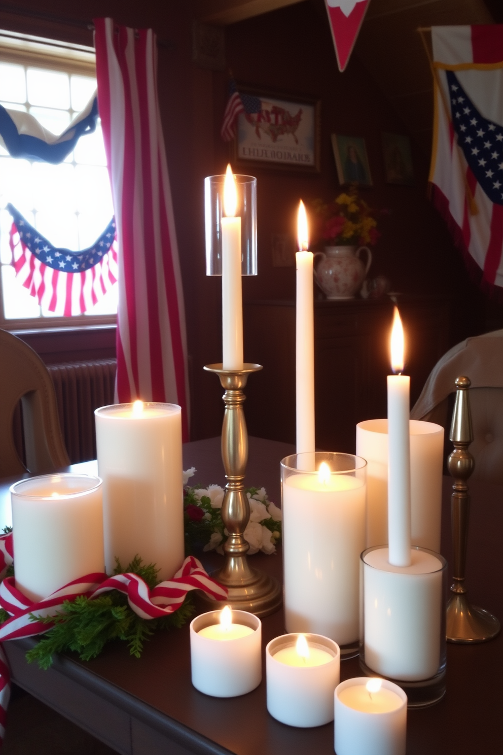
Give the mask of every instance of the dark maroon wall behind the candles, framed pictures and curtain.
[[[469, 279], [443, 221], [428, 202], [428, 159], [413, 144], [416, 186], [385, 183], [381, 131], [406, 133], [400, 119], [358, 60], [357, 45], [344, 74], [337, 70], [323, 5], [302, 2], [225, 29], [226, 62], [238, 83], [285, 94], [319, 97], [321, 173], [256, 168], [259, 275], [244, 279], [244, 299], [290, 299], [293, 267], [273, 267], [271, 236], [294, 238], [299, 198], [333, 199], [339, 191], [331, 133], [362, 136], [373, 187], [362, 190], [370, 205], [387, 208], [371, 275], [384, 273], [394, 290], [443, 293], [452, 300], [451, 343], [501, 327], [501, 310], [487, 303]], [[128, 26], [152, 26], [158, 48], [161, 117], [173, 194], [176, 233], [186, 297], [192, 439], [216, 435], [222, 418], [221, 390], [203, 365], [221, 358], [219, 279], [204, 275], [203, 180], [222, 172], [228, 147], [219, 137], [228, 75], [192, 63], [192, 4], [164, 0], [119, 2], [20, 0], [0, 5], [0, 27], [92, 44], [87, 23], [112, 16]], [[245, 359], [253, 361], [247, 352]]]

